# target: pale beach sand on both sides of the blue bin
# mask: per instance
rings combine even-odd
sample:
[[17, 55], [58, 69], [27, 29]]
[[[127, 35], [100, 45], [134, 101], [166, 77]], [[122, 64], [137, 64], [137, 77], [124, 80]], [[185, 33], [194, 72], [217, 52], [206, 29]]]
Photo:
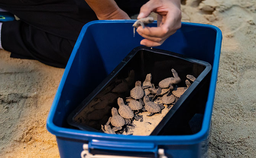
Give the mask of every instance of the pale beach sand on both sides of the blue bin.
[[[182, 3], [182, 21], [223, 34], [208, 157], [255, 158], [256, 1]], [[0, 157], [58, 158], [45, 122], [64, 69], [9, 56], [0, 50]]]

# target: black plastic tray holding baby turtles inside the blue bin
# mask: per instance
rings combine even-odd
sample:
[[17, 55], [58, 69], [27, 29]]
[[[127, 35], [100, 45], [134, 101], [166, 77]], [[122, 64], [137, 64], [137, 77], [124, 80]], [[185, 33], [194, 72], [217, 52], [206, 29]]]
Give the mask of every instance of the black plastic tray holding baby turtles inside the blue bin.
[[[207, 93], [207, 88], [204, 88], [202, 91], [201, 89], [205, 83], [209, 82], [211, 65], [207, 62], [188, 58], [170, 51], [152, 49], [144, 46], [134, 48], [100, 85], [70, 113], [67, 119], [68, 124], [86, 131], [102, 132], [100, 131], [100, 126], [101, 124], [105, 124], [111, 116], [112, 107], [118, 109], [117, 98], [122, 97], [125, 100], [125, 97], [130, 96], [130, 90], [134, 88], [135, 81], [139, 80], [143, 82], [147, 73], [151, 73], [151, 82], [158, 86], [159, 81], [167, 77], [172, 77], [171, 69], [175, 69], [181, 78], [181, 82], [178, 84], [179, 87], [186, 86], [185, 80], [188, 74], [196, 77], [196, 80], [175, 105], [173, 105], [172, 109], [165, 115], [154, 131], [152, 131], [151, 135], [190, 134], [190, 132], [180, 132], [180, 130], [177, 129], [173, 129], [172, 132], [170, 132], [169, 128], [182, 128], [184, 124], [186, 124], [184, 126], [187, 126], [188, 121], [191, 120], [195, 113], [198, 113], [198, 110], [193, 109], [199, 109], [199, 111], [203, 113], [204, 107], [200, 109], [200, 101], [198, 101], [197, 98], [193, 98], [193, 96], [200, 97], [200, 94], [204, 95]], [[130, 83], [129, 89], [124, 93], [111, 92], [122, 80], [129, 77], [131, 70], [134, 71], [134, 80]], [[94, 109], [95, 104], [99, 102], [105, 94], [111, 96], [114, 94], [116, 98], [115, 101], [109, 103], [104, 109]], [[190, 100], [193, 100], [193, 102]], [[88, 115], [90, 117], [88, 117]], [[181, 130], [185, 131], [187, 129]]]

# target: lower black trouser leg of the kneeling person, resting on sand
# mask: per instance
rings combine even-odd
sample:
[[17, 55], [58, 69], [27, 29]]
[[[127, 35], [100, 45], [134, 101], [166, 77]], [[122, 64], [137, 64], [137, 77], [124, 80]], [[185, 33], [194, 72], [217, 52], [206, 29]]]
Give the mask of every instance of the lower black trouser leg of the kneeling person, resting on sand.
[[11, 57], [36, 59], [61, 68], [65, 68], [75, 45], [75, 40], [49, 34], [22, 21], [3, 22], [1, 41]]

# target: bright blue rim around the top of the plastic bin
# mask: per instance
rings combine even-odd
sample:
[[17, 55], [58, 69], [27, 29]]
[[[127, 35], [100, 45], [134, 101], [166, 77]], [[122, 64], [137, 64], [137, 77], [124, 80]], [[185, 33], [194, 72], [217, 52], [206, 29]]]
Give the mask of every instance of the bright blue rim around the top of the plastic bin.
[[[63, 90], [64, 83], [66, 81], [68, 72], [70, 71], [70, 67], [73, 63], [75, 58], [76, 52], [78, 51], [79, 45], [84, 37], [84, 34], [87, 28], [93, 24], [104, 24], [104, 23], [133, 23], [136, 20], [97, 20], [91, 21], [85, 24], [81, 30], [81, 33], [76, 41], [74, 49], [71, 53], [70, 59], [68, 60], [68, 64], [66, 65], [65, 71], [63, 73], [62, 79], [58, 86], [57, 92], [53, 99], [52, 107], [50, 109], [49, 115], [47, 117], [46, 127], [47, 130], [54, 134], [57, 137], [63, 137], [67, 139], [77, 139], [77, 140], [112, 140], [112, 141], [126, 141], [126, 142], [155, 142], [156, 144], [160, 145], [189, 145], [189, 144], [198, 144], [206, 139], [209, 133], [210, 124], [211, 124], [211, 115], [212, 115], [212, 108], [214, 103], [214, 96], [215, 96], [215, 88], [217, 82], [217, 73], [219, 69], [219, 59], [220, 59], [220, 49], [221, 49], [221, 42], [222, 42], [222, 32], [221, 30], [209, 24], [198, 24], [198, 23], [191, 23], [191, 22], [181, 22], [182, 26], [197, 26], [197, 27], [207, 27], [213, 29], [216, 32], [216, 40], [215, 40], [215, 51], [214, 51], [214, 61], [212, 64], [212, 72], [211, 72], [211, 80], [210, 80], [210, 87], [209, 87], [209, 94], [207, 97], [204, 117], [203, 117], [203, 124], [202, 128], [199, 132], [192, 135], [175, 135], [175, 136], [126, 136], [126, 135], [114, 135], [114, 134], [105, 134], [99, 132], [89, 132], [89, 131], [82, 131], [78, 129], [70, 129], [70, 128], [63, 128], [56, 126], [53, 123], [53, 117], [55, 115], [58, 102], [60, 100], [60, 94]], [[154, 22], [156, 23], [156, 21]]]

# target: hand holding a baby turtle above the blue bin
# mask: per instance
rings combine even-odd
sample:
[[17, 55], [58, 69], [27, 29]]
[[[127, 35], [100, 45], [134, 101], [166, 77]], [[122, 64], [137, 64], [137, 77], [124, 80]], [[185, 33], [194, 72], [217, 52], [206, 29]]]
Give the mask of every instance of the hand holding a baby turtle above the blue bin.
[[138, 19], [147, 17], [152, 11], [157, 13], [157, 27], [139, 26], [137, 32], [145, 39], [141, 45], [160, 46], [181, 27], [180, 0], [150, 0], [141, 6]]

